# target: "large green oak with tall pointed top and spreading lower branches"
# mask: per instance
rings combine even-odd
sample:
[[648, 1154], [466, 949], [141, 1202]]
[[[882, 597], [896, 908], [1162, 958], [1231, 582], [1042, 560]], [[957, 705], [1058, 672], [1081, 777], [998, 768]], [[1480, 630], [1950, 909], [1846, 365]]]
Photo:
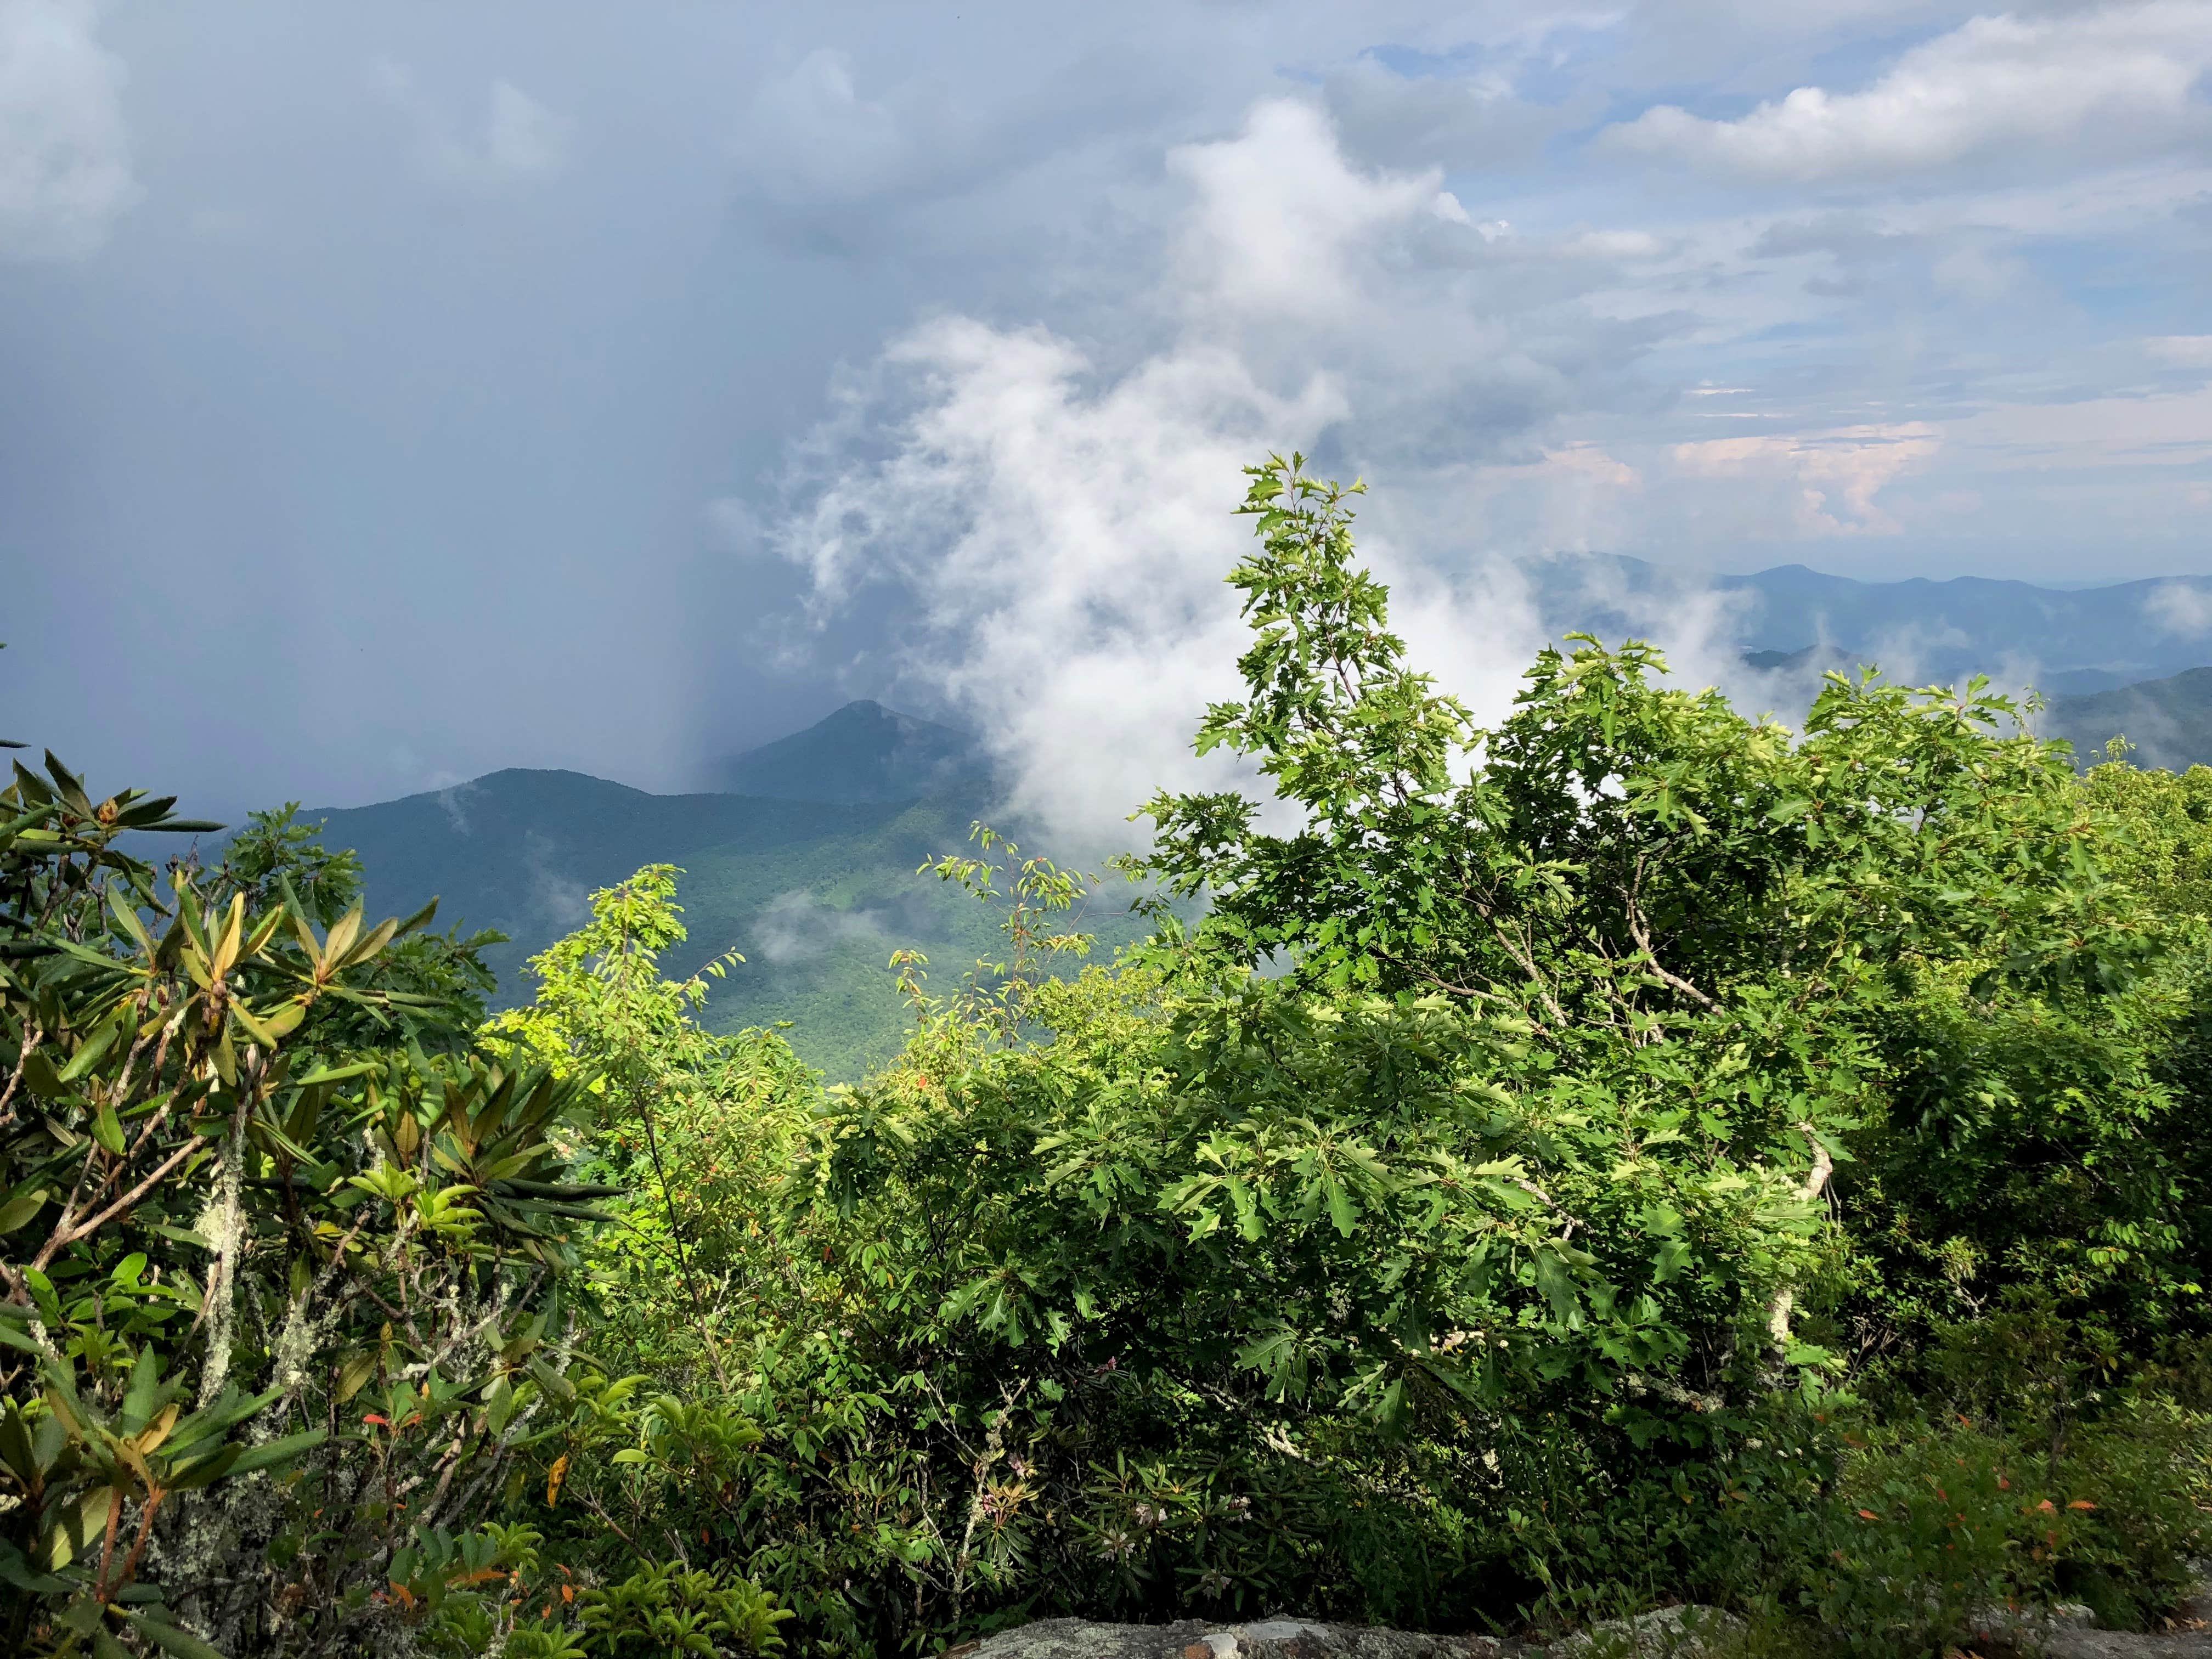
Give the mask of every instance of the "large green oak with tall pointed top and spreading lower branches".
[[[1197, 929], [1040, 984], [1022, 1042], [925, 1033], [803, 1166], [847, 1241], [827, 1294], [929, 1378], [918, 1433], [973, 1449], [969, 1482], [931, 1453], [938, 1533], [1051, 1559], [1082, 1606], [1252, 1582], [1212, 1524], [1168, 1548], [1168, 1489], [1305, 1493], [1310, 1586], [1354, 1555], [1329, 1515], [1380, 1491], [1480, 1509], [1557, 1458], [1624, 1493], [1717, 1462], [1778, 1385], [1860, 1358], [1878, 1181], [1993, 1150], [1913, 1141], [1905, 1033], [2110, 1015], [2161, 949], [2064, 750], [1986, 686], [1834, 677], [1794, 737], [1584, 637], [1482, 732], [1407, 666], [1349, 500], [1254, 469], [1248, 695], [1199, 734], [1296, 825], [1155, 799], [1144, 867]], [[2115, 1102], [2095, 1133], [2126, 1126]], [[1102, 1447], [1159, 1473], [1099, 1486]]]

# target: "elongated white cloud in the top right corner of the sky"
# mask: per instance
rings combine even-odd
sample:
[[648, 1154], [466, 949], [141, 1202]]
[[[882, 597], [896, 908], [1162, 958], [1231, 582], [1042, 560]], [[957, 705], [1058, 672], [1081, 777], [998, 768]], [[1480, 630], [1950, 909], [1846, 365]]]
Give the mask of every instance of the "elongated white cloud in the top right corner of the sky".
[[1798, 86], [1734, 122], [1661, 104], [1606, 142], [1770, 179], [1911, 173], [2020, 146], [2115, 155], [2203, 133], [2208, 66], [2203, 0], [2000, 13], [1913, 46], [1865, 91]]

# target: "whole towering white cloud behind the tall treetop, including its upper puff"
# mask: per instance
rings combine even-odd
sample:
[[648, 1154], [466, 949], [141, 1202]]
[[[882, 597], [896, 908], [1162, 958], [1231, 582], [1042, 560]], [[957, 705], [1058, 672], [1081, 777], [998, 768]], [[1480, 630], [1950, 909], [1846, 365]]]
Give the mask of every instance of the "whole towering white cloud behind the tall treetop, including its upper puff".
[[[1367, 515], [1363, 557], [1413, 659], [1489, 717], [1548, 624], [1484, 546], [1475, 471], [1531, 451], [1559, 489], [1639, 482], [1590, 447], [1535, 445], [1590, 385], [1606, 325], [1562, 325], [1573, 290], [1531, 296], [1528, 254], [1493, 248], [1436, 173], [1354, 168], [1292, 100], [1168, 168], [1188, 206], [1150, 303], [1157, 349], [1110, 363], [1044, 327], [922, 323], [838, 387], [768, 529], [816, 624], [896, 595], [900, 688], [982, 732], [1013, 810], [1060, 845], [1126, 845], [1152, 790], [1243, 776], [1190, 752], [1241, 684], [1223, 584], [1250, 533], [1241, 467], [1321, 447], [1327, 471], [1387, 473], [1405, 500]], [[1659, 611], [1686, 657], [1714, 655], [1714, 599]]]

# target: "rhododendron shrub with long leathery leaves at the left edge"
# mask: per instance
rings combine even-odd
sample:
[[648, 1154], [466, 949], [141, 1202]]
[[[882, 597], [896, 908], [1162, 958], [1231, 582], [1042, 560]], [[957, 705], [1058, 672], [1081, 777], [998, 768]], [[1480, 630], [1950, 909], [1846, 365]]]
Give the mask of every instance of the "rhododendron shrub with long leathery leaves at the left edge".
[[431, 911], [161, 883], [119, 838], [210, 827], [170, 807], [51, 754], [0, 790], [7, 1646], [356, 1650], [573, 1398], [580, 1084], [354, 1046], [451, 1029], [383, 975]]

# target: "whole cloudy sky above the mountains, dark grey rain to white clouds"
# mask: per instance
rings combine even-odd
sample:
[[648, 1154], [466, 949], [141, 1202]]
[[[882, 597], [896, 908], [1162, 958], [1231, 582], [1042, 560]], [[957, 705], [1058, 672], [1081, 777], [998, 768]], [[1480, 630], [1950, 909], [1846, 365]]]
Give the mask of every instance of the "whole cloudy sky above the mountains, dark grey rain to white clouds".
[[880, 697], [1117, 823], [1292, 447], [1478, 708], [1542, 555], [2212, 573], [2208, 71], [2212, 0], [0, 0], [0, 734], [223, 814]]

